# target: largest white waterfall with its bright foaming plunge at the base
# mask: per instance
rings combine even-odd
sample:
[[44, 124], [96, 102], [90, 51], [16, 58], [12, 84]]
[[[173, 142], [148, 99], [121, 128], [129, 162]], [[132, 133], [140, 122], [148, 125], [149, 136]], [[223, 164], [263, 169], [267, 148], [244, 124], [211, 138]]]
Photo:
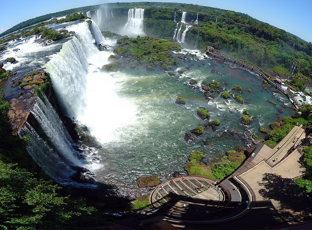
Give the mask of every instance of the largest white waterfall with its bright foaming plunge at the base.
[[[91, 27], [97, 25], [92, 22]], [[65, 42], [61, 51], [45, 65], [53, 88], [70, 116], [86, 125], [101, 143], [110, 142], [119, 136], [115, 133], [116, 129], [132, 122], [137, 113], [136, 106], [116, 94], [120, 79], [101, 71], [101, 67], [109, 63], [107, 59], [113, 52], [99, 51], [94, 45], [94, 37], [102, 36], [104, 39], [100, 30], [91, 28], [94, 33], [97, 32], [92, 37], [87, 22], [66, 29], [74, 31], [76, 37]], [[120, 108], [127, 111], [127, 116], [116, 112]]]

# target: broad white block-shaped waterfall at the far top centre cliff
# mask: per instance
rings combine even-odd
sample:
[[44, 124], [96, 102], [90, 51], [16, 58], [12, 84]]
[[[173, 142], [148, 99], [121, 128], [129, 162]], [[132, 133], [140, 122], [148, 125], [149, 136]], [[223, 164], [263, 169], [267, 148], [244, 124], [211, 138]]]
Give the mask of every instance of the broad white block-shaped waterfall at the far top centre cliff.
[[128, 11], [128, 21], [124, 26], [124, 34], [135, 37], [144, 35], [143, 32], [144, 9], [134, 8]]

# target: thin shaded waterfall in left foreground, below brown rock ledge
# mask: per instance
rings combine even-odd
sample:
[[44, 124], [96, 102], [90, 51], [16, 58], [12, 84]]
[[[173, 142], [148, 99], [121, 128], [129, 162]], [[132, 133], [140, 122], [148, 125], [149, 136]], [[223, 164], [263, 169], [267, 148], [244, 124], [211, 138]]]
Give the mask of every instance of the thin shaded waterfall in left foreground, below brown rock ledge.
[[[92, 168], [92, 165], [85, 165], [83, 159], [78, 159], [79, 152], [73, 148], [73, 141], [56, 111], [43, 93], [40, 96], [43, 101], [37, 97], [31, 113], [40, 125], [41, 134], [39, 135], [28, 122], [19, 133], [20, 137], [29, 136], [31, 142], [27, 146], [29, 154], [56, 182], [64, 186], [89, 187], [90, 185], [74, 182], [70, 175], [74, 172], [74, 166]], [[41, 136], [45, 136], [46, 141]]]

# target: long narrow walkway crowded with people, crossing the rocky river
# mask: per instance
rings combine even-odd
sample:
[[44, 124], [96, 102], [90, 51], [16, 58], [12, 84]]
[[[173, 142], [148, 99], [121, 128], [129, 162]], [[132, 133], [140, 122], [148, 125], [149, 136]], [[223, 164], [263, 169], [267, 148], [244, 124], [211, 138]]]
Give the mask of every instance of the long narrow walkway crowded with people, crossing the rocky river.
[[286, 91], [285, 89], [283, 89], [283, 88], [282, 88], [281, 86], [279, 86], [277, 83], [271, 81], [270, 78], [269, 78], [268, 76], [266, 76], [266, 74], [264, 74], [264, 73], [262, 73], [261, 71], [257, 70], [255, 67], [250, 66], [250, 65], [246, 64], [245, 62], [237, 61], [237, 60], [235, 60], [235, 59], [233, 59], [233, 58], [226, 57], [226, 56], [221, 55], [221, 54], [213, 53], [213, 52], [211, 52], [211, 51], [209, 51], [209, 50], [207, 50], [206, 52], [207, 52], [208, 54], [214, 56], [214, 57], [218, 57], [218, 58], [220, 58], [220, 59], [227, 60], [227, 61], [232, 61], [232, 62], [234, 62], [234, 63], [237, 63], [237, 64], [241, 65], [241, 66], [244, 67], [244, 68], [249, 68], [249, 69], [251, 69], [251, 71], [257, 72], [257, 73], [258, 73], [259, 75], [261, 75], [267, 82], [270, 82], [272, 85], [274, 85], [274, 86], [275, 86], [276, 88], [278, 88], [280, 91], [282, 91], [282, 92], [288, 97], [288, 99], [291, 101], [291, 103], [292, 103], [293, 105], [295, 105], [296, 108], [298, 108], [298, 107], [300, 106], [300, 104], [298, 103], [298, 101], [294, 98], [294, 96], [293, 96], [290, 92], [288, 92], [288, 91]]

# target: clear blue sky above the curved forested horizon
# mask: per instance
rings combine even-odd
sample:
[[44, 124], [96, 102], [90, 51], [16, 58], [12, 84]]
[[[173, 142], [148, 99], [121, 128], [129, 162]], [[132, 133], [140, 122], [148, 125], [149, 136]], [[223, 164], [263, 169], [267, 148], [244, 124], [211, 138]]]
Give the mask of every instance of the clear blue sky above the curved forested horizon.
[[[142, 2], [135, 0], [98, 1], [98, 0], [15, 0], [3, 1], [0, 13], [0, 32], [26, 21], [30, 18], [47, 13], [58, 12], [70, 8], [87, 5], [97, 5], [108, 2]], [[158, 0], [149, 2], [181, 2], [193, 3], [202, 6], [217, 7], [221, 9], [242, 12], [260, 21], [267, 22], [275, 27], [297, 35], [307, 42], [312, 42], [312, 1], [311, 0]]]

